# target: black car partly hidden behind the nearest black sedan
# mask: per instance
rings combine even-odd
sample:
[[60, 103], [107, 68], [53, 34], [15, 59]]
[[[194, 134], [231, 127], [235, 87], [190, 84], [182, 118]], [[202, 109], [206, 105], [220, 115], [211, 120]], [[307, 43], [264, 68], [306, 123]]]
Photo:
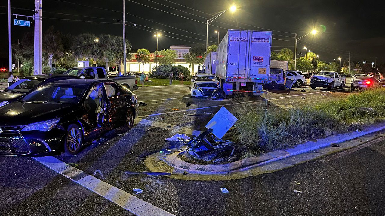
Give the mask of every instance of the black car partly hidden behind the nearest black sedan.
[[17, 101], [31, 91], [39, 88], [44, 84], [58, 80], [79, 79], [77, 76], [63, 74], [42, 74], [33, 75], [22, 78], [12, 85], [8, 86], [4, 91], [0, 92], [0, 106]]

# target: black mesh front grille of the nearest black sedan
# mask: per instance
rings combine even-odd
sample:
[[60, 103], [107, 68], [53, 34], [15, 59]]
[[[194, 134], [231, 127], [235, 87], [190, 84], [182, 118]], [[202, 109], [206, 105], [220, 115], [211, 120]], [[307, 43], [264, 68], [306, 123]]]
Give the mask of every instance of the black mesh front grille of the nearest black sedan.
[[31, 149], [18, 131], [0, 133], [0, 155], [27, 155], [29, 153], [31, 153]]

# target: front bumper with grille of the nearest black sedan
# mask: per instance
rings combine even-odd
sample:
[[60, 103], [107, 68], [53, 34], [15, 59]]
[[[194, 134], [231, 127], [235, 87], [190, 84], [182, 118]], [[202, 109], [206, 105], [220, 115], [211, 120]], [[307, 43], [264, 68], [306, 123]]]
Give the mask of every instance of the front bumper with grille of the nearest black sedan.
[[50, 131], [20, 131], [20, 129], [0, 132], [0, 155], [45, 156], [61, 152], [65, 131], [54, 128]]

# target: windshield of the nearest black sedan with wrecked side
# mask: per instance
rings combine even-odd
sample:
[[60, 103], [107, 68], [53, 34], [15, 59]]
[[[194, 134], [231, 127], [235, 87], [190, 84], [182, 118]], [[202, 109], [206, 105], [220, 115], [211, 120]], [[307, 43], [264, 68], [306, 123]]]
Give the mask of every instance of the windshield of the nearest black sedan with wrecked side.
[[77, 103], [87, 88], [88, 85], [51, 84], [37, 88], [22, 100], [27, 102]]

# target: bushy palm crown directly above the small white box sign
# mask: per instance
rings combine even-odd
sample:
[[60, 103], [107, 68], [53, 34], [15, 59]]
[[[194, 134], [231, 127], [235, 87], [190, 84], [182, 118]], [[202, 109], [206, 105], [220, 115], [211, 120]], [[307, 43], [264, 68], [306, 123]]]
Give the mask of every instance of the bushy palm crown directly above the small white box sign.
[[96, 60], [99, 56], [99, 43], [95, 41], [97, 37], [91, 33], [82, 33], [74, 38], [72, 53], [75, 58], [85, 58], [87, 61]]

